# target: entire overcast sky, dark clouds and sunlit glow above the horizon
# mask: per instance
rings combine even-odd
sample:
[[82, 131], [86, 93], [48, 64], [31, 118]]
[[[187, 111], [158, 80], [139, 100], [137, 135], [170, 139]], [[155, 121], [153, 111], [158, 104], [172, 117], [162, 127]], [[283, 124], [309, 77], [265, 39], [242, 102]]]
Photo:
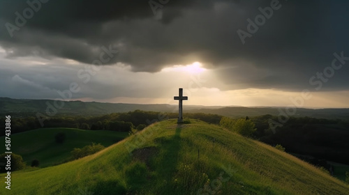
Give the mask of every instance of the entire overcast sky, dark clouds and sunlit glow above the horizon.
[[175, 104], [181, 87], [185, 104], [349, 107], [348, 8], [0, 0], [0, 97]]

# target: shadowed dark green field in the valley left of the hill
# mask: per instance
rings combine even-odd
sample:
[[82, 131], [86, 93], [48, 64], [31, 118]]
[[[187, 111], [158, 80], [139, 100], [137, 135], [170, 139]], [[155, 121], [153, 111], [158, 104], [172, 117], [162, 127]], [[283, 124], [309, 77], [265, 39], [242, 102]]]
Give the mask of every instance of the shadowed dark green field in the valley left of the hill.
[[[54, 136], [59, 132], [66, 134], [66, 140], [61, 144], [54, 140]], [[27, 165], [30, 166], [33, 159], [38, 159], [40, 167], [45, 167], [64, 162], [70, 157], [70, 151], [73, 148], [82, 148], [92, 142], [110, 146], [127, 136], [128, 132], [47, 128], [12, 134], [10, 138], [11, 151], [22, 155]], [[0, 141], [5, 143], [5, 138], [0, 137]]]

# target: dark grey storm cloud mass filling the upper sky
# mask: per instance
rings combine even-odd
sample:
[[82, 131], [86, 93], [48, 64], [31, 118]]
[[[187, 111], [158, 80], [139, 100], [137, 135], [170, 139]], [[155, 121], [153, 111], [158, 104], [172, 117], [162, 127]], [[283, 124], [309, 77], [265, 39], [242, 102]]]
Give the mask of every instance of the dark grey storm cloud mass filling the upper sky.
[[[28, 4], [1, 1], [0, 45], [12, 58], [57, 56], [83, 63], [112, 45], [119, 54], [109, 63], [126, 63], [136, 72], [200, 61], [225, 81], [225, 90], [311, 88], [309, 79], [331, 65], [334, 52], [349, 56], [349, 3], [339, 0], [279, 1], [281, 8], [242, 44], [237, 30], [247, 32], [246, 20], [255, 20], [258, 8], [271, 2], [170, 0], [156, 20], [149, 1], [51, 0], [11, 38], [5, 24], [15, 24], [15, 12], [22, 14]], [[323, 90], [348, 89], [347, 66]]]

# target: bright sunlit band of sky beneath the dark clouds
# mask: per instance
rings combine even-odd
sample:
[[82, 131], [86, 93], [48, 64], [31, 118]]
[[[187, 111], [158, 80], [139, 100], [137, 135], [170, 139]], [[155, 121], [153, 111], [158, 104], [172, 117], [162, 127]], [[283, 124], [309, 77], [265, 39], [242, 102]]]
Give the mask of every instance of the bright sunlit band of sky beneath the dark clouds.
[[[2, 61], [8, 63], [8, 59]], [[84, 84], [83, 80], [77, 77], [78, 70], [85, 68], [86, 64], [75, 64], [75, 61], [68, 59], [54, 59], [47, 65], [44, 65], [45, 63], [48, 63], [46, 59], [20, 58], [10, 66], [0, 66], [0, 70], [3, 71], [0, 81], [11, 86], [10, 88], [17, 88], [18, 93], [40, 91], [31, 94], [30, 97], [36, 99], [57, 98], [57, 93], [50, 89], [64, 91], [70, 83], [77, 82], [81, 91], [74, 94], [72, 100], [114, 103], [176, 104], [172, 97], [176, 95], [178, 88], [184, 88], [184, 94], [190, 97], [186, 104], [205, 106], [285, 107], [291, 103], [290, 97], [299, 96], [297, 92], [274, 88], [233, 89], [234, 86], [222, 82], [219, 75], [203, 68], [199, 62], [174, 65], [154, 73], [132, 72], [131, 66], [117, 63], [104, 66], [91, 76], [88, 84]], [[24, 65], [30, 65], [32, 72], [25, 71]], [[231, 89], [223, 90], [224, 88]], [[13, 93], [5, 88], [0, 92]], [[304, 107], [346, 107], [346, 97], [348, 91], [342, 91], [340, 94], [326, 91], [313, 93], [313, 98], [304, 102]]]

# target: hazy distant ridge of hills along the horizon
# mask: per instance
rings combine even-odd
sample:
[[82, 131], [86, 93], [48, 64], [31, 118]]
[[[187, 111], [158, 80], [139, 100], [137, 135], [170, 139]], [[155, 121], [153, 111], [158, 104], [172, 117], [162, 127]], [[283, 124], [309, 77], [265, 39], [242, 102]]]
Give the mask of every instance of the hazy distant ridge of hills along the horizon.
[[[18, 100], [0, 98], [0, 114], [14, 114], [15, 116], [35, 116], [37, 112], [45, 114], [47, 105], [54, 105], [53, 100]], [[177, 112], [177, 105], [170, 104], [122, 104], [102, 102], [64, 102], [64, 107], [57, 109], [59, 115], [98, 116], [114, 112], [128, 112], [135, 110]], [[50, 111], [50, 110], [49, 110]], [[276, 107], [205, 107], [185, 105], [184, 111], [190, 113], [218, 114], [230, 117], [261, 116], [271, 114], [279, 116], [285, 113], [285, 108]], [[292, 116], [309, 116], [313, 118], [349, 119], [349, 109], [297, 109]]]

